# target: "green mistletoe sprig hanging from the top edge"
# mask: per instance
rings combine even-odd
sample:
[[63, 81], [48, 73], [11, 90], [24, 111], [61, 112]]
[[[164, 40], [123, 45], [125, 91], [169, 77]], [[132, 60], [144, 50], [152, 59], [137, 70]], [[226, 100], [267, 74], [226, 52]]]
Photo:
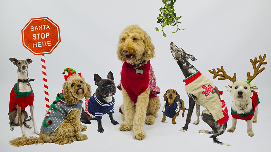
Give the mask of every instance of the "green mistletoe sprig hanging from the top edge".
[[160, 23], [160, 25], [162, 26], [162, 29], [159, 30], [158, 27], [155, 27], [156, 31], [162, 31], [163, 32], [163, 36], [166, 37], [166, 33], [164, 33], [163, 31], [163, 27], [165, 27], [166, 25], [171, 25], [171, 26], [175, 26], [177, 25], [177, 30], [175, 32], [172, 33], [176, 33], [178, 30], [184, 30], [184, 29], [179, 29], [179, 26], [177, 23], [179, 22], [179, 19], [182, 17], [176, 17], [176, 13], [174, 13], [174, 3], [176, 2], [176, 0], [162, 0], [162, 2], [165, 4], [165, 6], [162, 8], [160, 8], [160, 12], [161, 14], [159, 14], [159, 17], [157, 17], [158, 21], [157, 23]]

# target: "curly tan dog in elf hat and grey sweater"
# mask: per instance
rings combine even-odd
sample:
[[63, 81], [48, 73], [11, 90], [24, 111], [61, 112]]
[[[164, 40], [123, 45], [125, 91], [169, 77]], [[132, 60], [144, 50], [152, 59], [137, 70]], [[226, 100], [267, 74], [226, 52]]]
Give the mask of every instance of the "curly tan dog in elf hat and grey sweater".
[[91, 88], [81, 73], [77, 74], [71, 68], [66, 68], [65, 71], [69, 73], [64, 76], [66, 81], [62, 93], [57, 95], [48, 109], [42, 121], [39, 137], [18, 137], [9, 141], [11, 145], [24, 146], [44, 142], [63, 145], [87, 139], [87, 136], [81, 133], [87, 130], [87, 126], [80, 122], [80, 110], [82, 99], [91, 96]]

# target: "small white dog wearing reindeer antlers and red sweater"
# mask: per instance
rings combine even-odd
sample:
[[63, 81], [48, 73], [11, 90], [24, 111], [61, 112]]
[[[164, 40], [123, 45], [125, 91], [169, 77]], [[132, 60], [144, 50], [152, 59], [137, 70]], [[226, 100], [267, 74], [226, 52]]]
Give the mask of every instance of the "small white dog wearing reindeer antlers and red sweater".
[[[217, 76], [221, 76], [218, 80], [230, 80], [233, 82], [233, 85], [225, 85], [224, 89], [230, 92], [230, 96], [233, 98], [233, 102], [231, 105], [231, 115], [232, 115], [232, 127], [228, 129], [228, 132], [234, 132], [236, 129], [237, 119], [245, 120], [247, 122], [247, 133], [248, 136], [253, 137], [254, 133], [252, 131], [252, 122], [257, 123], [257, 115], [258, 115], [258, 103], [260, 103], [258, 94], [259, 87], [256, 86], [256, 76], [261, 73], [265, 68], [260, 69], [262, 64], [267, 64], [264, 62], [266, 54], [263, 57], [259, 57], [260, 60], [257, 60], [255, 57], [254, 61], [250, 59], [250, 62], [253, 65], [254, 73], [253, 76], [250, 76], [250, 73], [247, 73], [248, 79], [244, 80], [236, 80], [236, 73], [234, 73], [233, 77], [230, 77], [224, 71], [223, 66], [217, 68], [217, 72], [215, 69], [209, 70], [210, 73], [214, 74], [213, 79]], [[256, 64], [258, 66], [256, 67]], [[220, 74], [222, 72], [222, 74]], [[250, 87], [250, 82], [253, 84]]]

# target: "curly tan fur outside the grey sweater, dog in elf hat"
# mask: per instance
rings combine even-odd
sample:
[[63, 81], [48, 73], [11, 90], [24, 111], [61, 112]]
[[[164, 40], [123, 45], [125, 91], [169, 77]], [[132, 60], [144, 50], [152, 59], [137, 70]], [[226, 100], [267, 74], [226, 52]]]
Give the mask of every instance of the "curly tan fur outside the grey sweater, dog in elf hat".
[[[73, 84], [73, 85], [72, 85]], [[72, 87], [77, 86], [81, 87]], [[67, 81], [63, 84], [63, 96], [67, 104], [75, 104], [83, 98], [89, 98], [91, 96], [90, 85], [85, 82], [85, 79], [78, 74], [69, 76]], [[72, 143], [75, 140], [83, 141], [87, 139], [85, 134], [81, 131], [86, 131], [87, 126], [82, 125], [80, 122], [80, 110], [71, 110], [64, 122], [50, 134], [40, 131], [39, 137], [18, 137], [14, 140], [10, 140], [9, 143], [13, 146], [24, 146], [38, 143], [55, 143], [63, 145], [66, 143]]]

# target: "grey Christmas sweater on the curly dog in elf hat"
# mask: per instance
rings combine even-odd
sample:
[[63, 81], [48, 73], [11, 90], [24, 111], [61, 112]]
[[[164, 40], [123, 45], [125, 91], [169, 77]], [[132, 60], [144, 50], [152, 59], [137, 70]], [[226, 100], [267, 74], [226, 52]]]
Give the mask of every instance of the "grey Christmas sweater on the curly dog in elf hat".
[[57, 94], [56, 100], [50, 105], [44, 117], [40, 131], [47, 134], [55, 131], [64, 122], [70, 111], [76, 108], [81, 111], [82, 104], [83, 101], [79, 100], [77, 103], [69, 105], [65, 102], [62, 93]]

